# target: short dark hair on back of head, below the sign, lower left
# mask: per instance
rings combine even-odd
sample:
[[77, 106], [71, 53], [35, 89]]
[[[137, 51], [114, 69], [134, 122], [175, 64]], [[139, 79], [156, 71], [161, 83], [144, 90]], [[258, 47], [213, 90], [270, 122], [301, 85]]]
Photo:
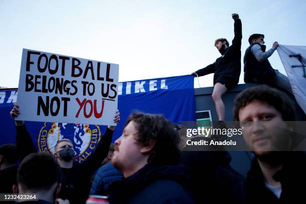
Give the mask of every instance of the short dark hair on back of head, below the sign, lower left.
[[61, 169], [47, 152], [24, 157], [17, 170], [17, 183], [26, 189], [49, 189], [60, 180]]

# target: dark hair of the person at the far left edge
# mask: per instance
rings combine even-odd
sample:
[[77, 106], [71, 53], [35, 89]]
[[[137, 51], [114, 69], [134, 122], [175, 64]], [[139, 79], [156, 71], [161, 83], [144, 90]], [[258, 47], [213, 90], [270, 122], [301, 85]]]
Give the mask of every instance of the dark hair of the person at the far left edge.
[[2, 144], [0, 146], [0, 155], [2, 155], [3, 163], [16, 164], [18, 161], [18, 152], [15, 144]]

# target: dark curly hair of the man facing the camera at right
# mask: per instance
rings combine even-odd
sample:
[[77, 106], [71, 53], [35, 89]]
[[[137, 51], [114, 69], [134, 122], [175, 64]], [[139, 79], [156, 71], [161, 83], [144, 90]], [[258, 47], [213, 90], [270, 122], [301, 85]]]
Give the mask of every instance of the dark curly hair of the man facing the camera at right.
[[233, 117], [235, 121], [239, 121], [239, 109], [253, 100], [266, 102], [273, 106], [281, 114], [284, 121], [295, 120], [294, 106], [284, 92], [267, 85], [258, 85], [246, 88], [235, 97], [233, 104]]

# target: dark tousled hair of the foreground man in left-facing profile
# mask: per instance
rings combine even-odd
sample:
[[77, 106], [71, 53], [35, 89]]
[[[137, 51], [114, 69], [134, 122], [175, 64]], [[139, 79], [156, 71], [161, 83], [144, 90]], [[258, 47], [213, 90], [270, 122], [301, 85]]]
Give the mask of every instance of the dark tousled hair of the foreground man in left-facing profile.
[[148, 114], [141, 112], [131, 113], [124, 126], [130, 121], [136, 123], [138, 130], [138, 143], [147, 145], [155, 142], [148, 163], [156, 165], [173, 165], [179, 160], [179, 136], [174, 126], [161, 114]]

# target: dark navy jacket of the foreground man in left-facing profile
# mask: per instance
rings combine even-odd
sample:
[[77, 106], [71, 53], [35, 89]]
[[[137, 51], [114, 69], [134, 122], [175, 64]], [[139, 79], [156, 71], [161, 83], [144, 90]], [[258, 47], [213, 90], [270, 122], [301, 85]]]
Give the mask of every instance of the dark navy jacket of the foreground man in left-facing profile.
[[188, 178], [182, 166], [146, 164], [133, 175], [109, 185], [110, 203], [193, 203], [184, 188]]

